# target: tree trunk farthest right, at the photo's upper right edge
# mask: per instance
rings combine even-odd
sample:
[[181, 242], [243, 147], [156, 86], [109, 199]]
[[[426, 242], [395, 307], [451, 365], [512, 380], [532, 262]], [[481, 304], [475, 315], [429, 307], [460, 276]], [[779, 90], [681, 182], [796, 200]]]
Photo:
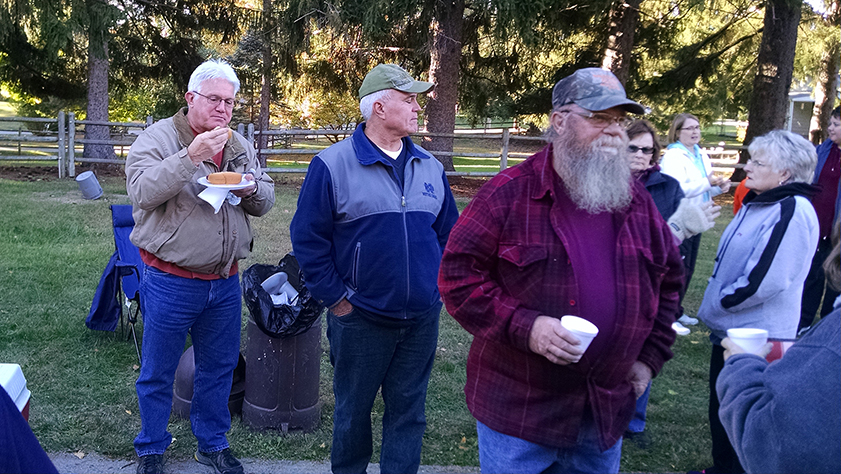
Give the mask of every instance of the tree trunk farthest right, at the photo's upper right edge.
[[[841, 1], [827, 2], [826, 22], [830, 28], [841, 26]], [[829, 115], [838, 91], [838, 70], [841, 63], [841, 42], [837, 34], [826, 39], [821, 56], [821, 67], [815, 83], [815, 107], [809, 122], [809, 138], [815, 145], [826, 140]]]

